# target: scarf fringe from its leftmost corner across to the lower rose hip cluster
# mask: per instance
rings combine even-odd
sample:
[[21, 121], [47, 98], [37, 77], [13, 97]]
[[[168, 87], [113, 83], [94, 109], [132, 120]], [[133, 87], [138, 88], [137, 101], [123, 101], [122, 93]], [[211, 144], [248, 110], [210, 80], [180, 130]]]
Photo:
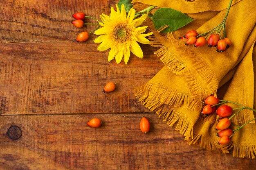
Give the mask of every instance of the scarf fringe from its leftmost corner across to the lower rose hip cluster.
[[153, 110], [162, 104], [172, 107], [181, 107], [183, 104], [182, 108], [188, 110], [200, 110], [203, 106], [200, 100], [194, 100], [189, 94], [169, 89], [161, 84], [148, 82], [137, 87], [135, 91], [137, 91], [135, 96], [139, 102]]

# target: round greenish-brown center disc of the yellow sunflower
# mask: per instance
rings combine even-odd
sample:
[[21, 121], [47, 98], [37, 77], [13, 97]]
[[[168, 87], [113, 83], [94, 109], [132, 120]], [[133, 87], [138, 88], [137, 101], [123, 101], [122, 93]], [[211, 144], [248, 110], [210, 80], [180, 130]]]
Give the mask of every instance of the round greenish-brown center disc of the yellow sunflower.
[[113, 31], [113, 38], [118, 42], [125, 42], [131, 39], [131, 30], [127, 24], [121, 23], [115, 26]]

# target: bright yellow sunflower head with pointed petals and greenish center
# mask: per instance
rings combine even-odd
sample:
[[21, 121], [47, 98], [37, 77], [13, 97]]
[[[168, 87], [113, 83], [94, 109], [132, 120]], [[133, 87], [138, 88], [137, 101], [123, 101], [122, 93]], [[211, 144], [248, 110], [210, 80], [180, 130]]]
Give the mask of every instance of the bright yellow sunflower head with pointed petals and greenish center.
[[116, 59], [119, 64], [124, 56], [124, 62], [127, 64], [130, 58], [130, 52], [139, 58], [143, 58], [143, 52], [139, 43], [150, 44], [150, 41], [145, 37], [152, 33], [142, 34], [148, 26], [137, 27], [146, 20], [147, 14], [134, 19], [135, 9], [130, 9], [126, 16], [124, 4], [121, 5], [121, 11], [117, 4], [117, 11], [111, 7], [110, 16], [101, 14], [102, 22], [99, 22], [101, 28], [95, 31], [94, 34], [100, 35], [94, 42], [101, 43], [97, 50], [105, 51], [110, 48], [108, 61]]

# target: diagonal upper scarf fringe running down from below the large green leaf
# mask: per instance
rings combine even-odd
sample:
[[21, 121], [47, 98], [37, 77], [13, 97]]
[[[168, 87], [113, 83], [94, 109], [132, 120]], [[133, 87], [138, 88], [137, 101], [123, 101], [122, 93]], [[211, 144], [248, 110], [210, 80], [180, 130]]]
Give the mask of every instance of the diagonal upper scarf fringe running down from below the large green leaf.
[[[153, 33], [155, 31], [152, 31]], [[165, 34], [166, 41], [171, 38], [172, 34]], [[205, 89], [202, 87], [202, 82], [204, 82], [209, 88], [209, 93], [217, 96], [218, 89], [218, 80], [215, 75], [208, 69], [206, 63], [197, 57], [193, 52], [190, 52], [187, 47], [184, 47], [185, 40], [175, 40], [172, 42], [175, 49], [180, 52], [180, 56], [177, 57], [173, 55], [171, 52], [168, 52], [168, 49], [164, 44], [162, 44], [159, 39], [153, 35], [150, 37], [151, 43], [150, 45], [153, 47], [159, 48], [156, 52], [154, 52], [157, 57], [174, 73], [182, 76], [186, 81], [186, 85], [193, 94], [191, 97], [198, 98], [201, 96], [201, 100], [206, 98]], [[188, 67], [182, 62], [182, 58], [186, 57], [191, 62], [191, 68]], [[195, 70], [197, 74], [201, 77], [200, 81], [195, 78], [193, 71]], [[210, 73], [209, 73], [210, 72]]]

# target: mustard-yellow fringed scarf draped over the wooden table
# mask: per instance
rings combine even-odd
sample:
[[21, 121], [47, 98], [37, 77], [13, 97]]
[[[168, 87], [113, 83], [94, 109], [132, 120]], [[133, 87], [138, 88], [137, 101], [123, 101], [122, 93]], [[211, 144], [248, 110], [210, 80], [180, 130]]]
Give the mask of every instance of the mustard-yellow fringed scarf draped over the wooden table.
[[[148, 5], [171, 7], [195, 19], [165, 36], [147, 20], [146, 24], [154, 35], [151, 46], [159, 47], [155, 54], [165, 66], [149, 82], [137, 88], [135, 96], [167, 124], [175, 126], [190, 144], [200, 141], [204, 148], [225, 153], [233, 148], [234, 156], [255, 158], [255, 122], [244, 126], [231, 138], [231, 144], [224, 147], [217, 144], [219, 138], [215, 126], [218, 116], [212, 114], [203, 118], [200, 115], [203, 107], [200, 100], [211, 94], [256, 109], [255, 0], [233, 1], [226, 22], [226, 36], [232, 44], [221, 53], [207, 45], [199, 48], [185, 46], [186, 40], [178, 37], [189, 30], [204, 33], [220, 24], [229, 0], [133, 0], [132, 3], [137, 10]], [[243, 124], [254, 116], [252, 111], [243, 110], [231, 122]]]

